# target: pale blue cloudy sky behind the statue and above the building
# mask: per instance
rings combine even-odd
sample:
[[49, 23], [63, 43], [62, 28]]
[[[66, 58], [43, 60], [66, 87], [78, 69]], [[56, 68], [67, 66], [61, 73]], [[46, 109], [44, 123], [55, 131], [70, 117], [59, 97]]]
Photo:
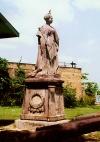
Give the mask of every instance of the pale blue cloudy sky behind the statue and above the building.
[[50, 9], [60, 38], [59, 62], [75, 62], [89, 81], [100, 83], [100, 0], [0, 0], [0, 12], [20, 33], [0, 39], [0, 57], [35, 63], [36, 33]]

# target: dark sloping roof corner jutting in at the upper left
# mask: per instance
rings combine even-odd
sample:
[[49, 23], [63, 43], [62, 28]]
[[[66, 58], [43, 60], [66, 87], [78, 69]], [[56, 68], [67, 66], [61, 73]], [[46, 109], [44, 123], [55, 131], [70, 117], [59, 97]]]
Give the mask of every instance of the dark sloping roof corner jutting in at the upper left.
[[17, 30], [0, 13], [0, 38], [19, 37]]

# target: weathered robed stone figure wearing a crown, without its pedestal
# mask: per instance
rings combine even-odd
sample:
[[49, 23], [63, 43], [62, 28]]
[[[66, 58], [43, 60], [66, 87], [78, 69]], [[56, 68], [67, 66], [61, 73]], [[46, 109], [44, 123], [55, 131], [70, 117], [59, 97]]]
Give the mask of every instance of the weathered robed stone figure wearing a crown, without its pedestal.
[[38, 56], [35, 71], [31, 77], [39, 75], [54, 75], [58, 69], [59, 38], [56, 30], [51, 26], [53, 17], [51, 11], [44, 16], [46, 24], [38, 29]]

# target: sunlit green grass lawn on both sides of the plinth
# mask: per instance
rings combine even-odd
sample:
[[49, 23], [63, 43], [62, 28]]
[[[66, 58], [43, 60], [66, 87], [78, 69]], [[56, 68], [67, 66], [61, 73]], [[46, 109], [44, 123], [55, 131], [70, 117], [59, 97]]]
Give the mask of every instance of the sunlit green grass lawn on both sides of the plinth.
[[[21, 107], [0, 107], [0, 119], [2, 120], [15, 120], [18, 119], [21, 114]], [[91, 107], [76, 107], [65, 108], [66, 119], [72, 119], [77, 116], [100, 112], [100, 106]]]

